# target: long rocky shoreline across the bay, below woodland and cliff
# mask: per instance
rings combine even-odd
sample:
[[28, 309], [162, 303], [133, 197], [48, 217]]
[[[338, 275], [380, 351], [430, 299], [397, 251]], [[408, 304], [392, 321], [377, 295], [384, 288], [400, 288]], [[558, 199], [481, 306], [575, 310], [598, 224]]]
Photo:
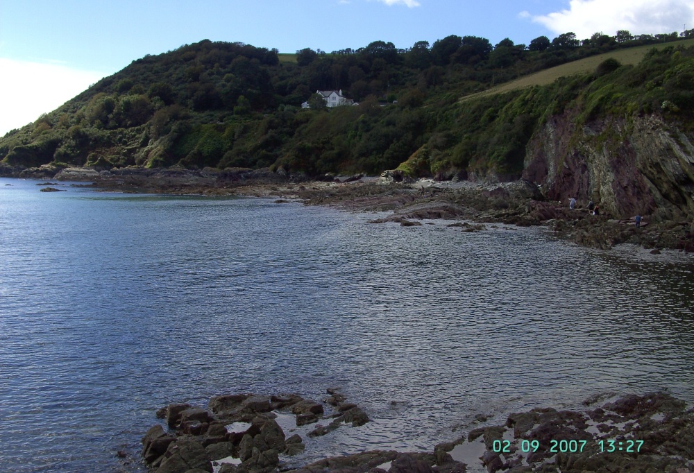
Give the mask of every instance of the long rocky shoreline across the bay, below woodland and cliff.
[[305, 175], [269, 169], [189, 170], [133, 166], [99, 170], [60, 169], [50, 165], [33, 169], [4, 167], [0, 175], [87, 181], [93, 182], [90, 185], [98, 189], [133, 193], [274, 196], [276, 203], [301, 200], [305, 205], [328, 205], [355, 212], [392, 212], [391, 216], [372, 222], [395, 221], [403, 226], [421, 225], [418, 221], [434, 218], [519, 226], [547, 225], [561, 239], [602, 250], [620, 243], [632, 243], [655, 253], [663, 249], [694, 251], [691, 218], [672, 221], [644, 215], [642, 226], [637, 228], [633, 217], [593, 216], [581, 203], [570, 209], [568, 203], [546, 200], [538, 186], [525, 180], [496, 184], [407, 182], [398, 171], [387, 171], [380, 178], [325, 175], [323, 180], [310, 180]]

